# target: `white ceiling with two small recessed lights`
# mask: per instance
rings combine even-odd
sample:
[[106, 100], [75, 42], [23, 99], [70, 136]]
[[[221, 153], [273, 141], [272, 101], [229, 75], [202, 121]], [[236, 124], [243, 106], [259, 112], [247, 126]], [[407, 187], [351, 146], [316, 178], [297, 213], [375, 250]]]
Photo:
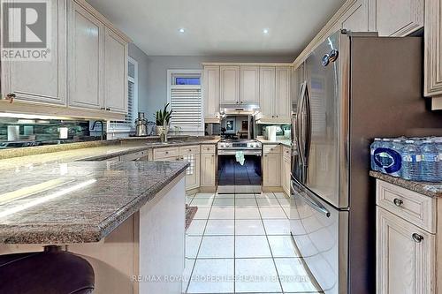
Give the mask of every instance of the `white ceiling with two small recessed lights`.
[[88, 0], [149, 56], [295, 57], [344, 2]]

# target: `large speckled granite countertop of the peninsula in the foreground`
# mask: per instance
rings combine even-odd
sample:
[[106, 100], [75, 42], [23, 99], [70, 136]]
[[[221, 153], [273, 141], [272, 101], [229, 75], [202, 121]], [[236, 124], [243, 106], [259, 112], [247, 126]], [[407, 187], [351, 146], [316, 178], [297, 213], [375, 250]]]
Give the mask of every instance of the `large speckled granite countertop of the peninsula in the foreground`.
[[69, 162], [3, 170], [0, 244], [97, 242], [187, 162]]

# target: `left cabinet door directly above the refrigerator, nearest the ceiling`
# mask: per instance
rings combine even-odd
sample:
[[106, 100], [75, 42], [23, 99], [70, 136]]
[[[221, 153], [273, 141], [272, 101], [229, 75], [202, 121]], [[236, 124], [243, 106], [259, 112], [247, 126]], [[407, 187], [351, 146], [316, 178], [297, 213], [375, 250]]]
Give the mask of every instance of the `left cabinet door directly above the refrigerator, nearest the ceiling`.
[[[354, 32], [369, 31], [368, 0], [358, 0], [347, 10], [339, 21], [340, 28]], [[333, 30], [334, 33], [336, 30]]]

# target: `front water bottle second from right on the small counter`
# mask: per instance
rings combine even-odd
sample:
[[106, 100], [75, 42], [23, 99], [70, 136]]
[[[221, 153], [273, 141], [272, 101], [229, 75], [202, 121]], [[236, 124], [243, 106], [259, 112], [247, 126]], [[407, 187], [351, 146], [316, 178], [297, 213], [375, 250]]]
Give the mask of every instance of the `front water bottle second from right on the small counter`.
[[420, 181], [421, 155], [419, 148], [415, 146], [415, 140], [408, 139], [401, 150], [402, 154], [402, 177], [410, 181]]

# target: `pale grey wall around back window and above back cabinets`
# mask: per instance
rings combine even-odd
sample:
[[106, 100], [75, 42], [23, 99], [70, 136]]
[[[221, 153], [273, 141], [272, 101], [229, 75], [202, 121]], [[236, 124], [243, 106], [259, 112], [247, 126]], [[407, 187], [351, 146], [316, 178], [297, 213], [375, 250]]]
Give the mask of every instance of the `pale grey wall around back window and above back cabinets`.
[[[130, 55], [130, 50], [129, 50]], [[167, 70], [202, 69], [203, 62], [293, 62], [294, 57], [147, 57], [147, 76], [139, 76], [139, 83], [147, 87], [146, 94], [139, 91], [138, 108], [146, 113], [150, 121], [154, 120], [154, 112], [163, 109], [167, 102]], [[140, 70], [139, 70], [140, 71]]]

